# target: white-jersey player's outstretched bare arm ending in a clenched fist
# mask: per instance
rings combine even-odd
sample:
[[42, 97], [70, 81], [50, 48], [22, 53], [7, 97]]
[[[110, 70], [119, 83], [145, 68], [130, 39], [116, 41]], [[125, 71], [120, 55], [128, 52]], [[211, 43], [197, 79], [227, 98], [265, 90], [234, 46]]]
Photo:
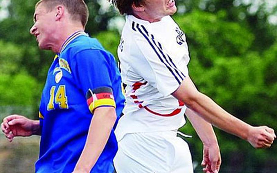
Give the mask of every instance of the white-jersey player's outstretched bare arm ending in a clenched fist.
[[274, 130], [266, 126], [253, 127], [229, 114], [211, 98], [200, 93], [189, 77], [172, 94], [188, 108], [220, 129], [247, 140], [255, 148], [270, 147], [276, 138]]

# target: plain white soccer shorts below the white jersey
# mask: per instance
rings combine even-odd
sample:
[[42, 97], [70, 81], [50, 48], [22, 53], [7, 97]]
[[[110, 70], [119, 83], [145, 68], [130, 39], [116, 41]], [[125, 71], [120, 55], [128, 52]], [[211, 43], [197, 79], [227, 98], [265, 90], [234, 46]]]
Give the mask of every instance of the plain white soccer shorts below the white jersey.
[[188, 144], [175, 131], [126, 134], [114, 166], [117, 173], [193, 173]]

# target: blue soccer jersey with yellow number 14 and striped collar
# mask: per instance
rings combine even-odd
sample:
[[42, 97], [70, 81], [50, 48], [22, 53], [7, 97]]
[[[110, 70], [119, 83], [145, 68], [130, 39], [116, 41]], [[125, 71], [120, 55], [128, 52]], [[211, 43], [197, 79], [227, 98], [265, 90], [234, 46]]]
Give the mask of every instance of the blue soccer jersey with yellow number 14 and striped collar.
[[[119, 118], [124, 107], [121, 91], [114, 57], [84, 32], [72, 34], [55, 56], [42, 93], [36, 172], [72, 172], [85, 145], [93, 110], [114, 106]], [[116, 152], [112, 130], [91, 172], [113, 172]]]

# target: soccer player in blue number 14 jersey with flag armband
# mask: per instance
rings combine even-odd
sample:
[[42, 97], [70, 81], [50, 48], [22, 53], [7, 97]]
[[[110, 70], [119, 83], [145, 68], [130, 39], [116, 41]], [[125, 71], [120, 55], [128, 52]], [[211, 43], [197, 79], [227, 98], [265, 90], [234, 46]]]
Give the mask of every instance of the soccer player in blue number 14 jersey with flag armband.
[[114, 127], [124, 106], [114, 57], [84, 32], [83, 0], [40, 0], [30, 29], [41, 49], [56, 53], [48, 71], [39, 120], [4, 118], [2, 131], [41, 135], [36, 172], [113, 172]]

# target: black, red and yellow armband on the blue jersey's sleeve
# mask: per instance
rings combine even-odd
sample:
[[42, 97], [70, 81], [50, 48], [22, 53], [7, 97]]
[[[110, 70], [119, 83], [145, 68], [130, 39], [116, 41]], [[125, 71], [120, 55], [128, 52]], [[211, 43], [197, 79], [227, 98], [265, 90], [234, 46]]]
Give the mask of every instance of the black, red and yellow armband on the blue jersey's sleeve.
[[93, 90], [89, 89], [86, 92], [86, 102], [91, 113], [98, 107], [112, 106], [115, 108], [113, 90], [110, 87], [99, 87]]

